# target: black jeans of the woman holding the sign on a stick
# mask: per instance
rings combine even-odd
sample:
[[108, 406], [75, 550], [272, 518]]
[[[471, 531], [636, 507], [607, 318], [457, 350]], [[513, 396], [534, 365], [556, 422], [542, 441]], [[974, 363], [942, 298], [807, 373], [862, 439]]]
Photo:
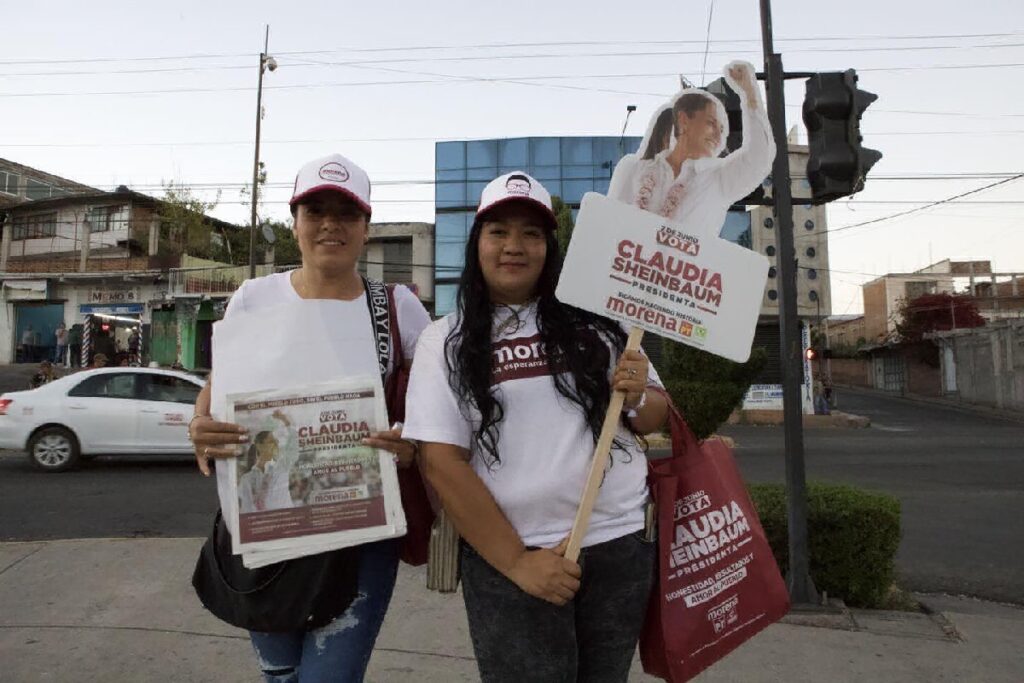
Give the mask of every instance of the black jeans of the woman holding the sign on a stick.
[[484, 683], [622, 683], [647, 612], [655, 544], [643, 531], [584, 548], [568, 604], [528, 595], [468, 545], [462, 590]]

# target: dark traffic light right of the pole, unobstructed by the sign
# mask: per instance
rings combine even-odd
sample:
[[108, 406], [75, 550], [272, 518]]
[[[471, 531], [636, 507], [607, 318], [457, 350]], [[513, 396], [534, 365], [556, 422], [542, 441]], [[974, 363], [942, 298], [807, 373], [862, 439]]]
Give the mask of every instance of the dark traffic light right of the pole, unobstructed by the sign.
[[878, 95], [857, 88], [857, 72], [815, 74], [807, 79], [807, 179], [814, 204], [864, 188], [864, 176], [882, 153], [860, 146], [860, 117]]

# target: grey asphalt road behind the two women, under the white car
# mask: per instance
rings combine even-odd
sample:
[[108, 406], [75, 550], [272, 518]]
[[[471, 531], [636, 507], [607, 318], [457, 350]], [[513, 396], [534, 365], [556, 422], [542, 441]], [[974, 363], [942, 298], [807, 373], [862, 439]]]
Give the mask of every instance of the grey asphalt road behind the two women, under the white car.
[[[1024, 424], [843, 391], [862, 430], [808, 430], [811, 479], [892, 493], [903, 503], [898, 567], [918, 591], [1024, 603]], [[751, 481], [782, 481], [782, 432], [729, 427]], [[99, 458], [65, 474], [0, 453], [0, 540], [197, 537], [216, 508], [188, 459]]]

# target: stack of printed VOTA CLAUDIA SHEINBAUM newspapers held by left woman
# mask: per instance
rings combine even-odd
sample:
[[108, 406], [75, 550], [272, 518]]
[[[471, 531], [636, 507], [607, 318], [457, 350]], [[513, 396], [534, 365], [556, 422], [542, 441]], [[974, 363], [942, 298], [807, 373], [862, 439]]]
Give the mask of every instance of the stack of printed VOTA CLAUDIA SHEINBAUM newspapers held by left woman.
[[250, 434], [231, 481], [236, 549], [257, 560], [247, 565], [404, 532], [394, 460], [361, 444], [386, 425], [378, 386], [367, 377], [227, 396], [228, 419]]

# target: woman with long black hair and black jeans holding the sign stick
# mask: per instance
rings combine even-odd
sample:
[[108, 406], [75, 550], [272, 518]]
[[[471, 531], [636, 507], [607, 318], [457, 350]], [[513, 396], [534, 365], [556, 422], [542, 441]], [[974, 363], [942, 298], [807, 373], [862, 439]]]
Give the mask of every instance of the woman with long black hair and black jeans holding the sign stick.
[[[662, 426], [666, 400], [616, 323], [555, 298], [555, 227], [528, 175], [484, 188], [458, 311], [421, 335], [410, 380], [403, 434], [465, 541], [486, 682], [625, 681], [654, 578], [635, 435]], [[563, 553], [612, 390], [628, 413], [578, 564]]]

